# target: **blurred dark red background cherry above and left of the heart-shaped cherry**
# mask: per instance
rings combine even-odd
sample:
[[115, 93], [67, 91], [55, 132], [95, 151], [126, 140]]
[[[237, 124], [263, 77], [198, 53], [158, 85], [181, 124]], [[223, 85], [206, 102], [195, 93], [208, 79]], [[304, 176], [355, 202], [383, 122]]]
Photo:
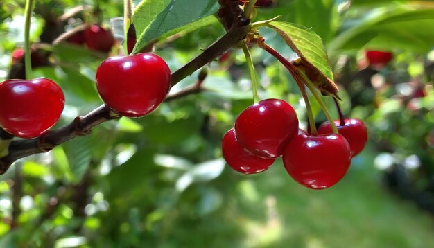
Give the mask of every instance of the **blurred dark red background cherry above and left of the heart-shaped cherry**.
[[85, 30], [86, 45], [89, 49], [108, 53], [114, 44], [110, 30], [105, 30], [96, 24]]

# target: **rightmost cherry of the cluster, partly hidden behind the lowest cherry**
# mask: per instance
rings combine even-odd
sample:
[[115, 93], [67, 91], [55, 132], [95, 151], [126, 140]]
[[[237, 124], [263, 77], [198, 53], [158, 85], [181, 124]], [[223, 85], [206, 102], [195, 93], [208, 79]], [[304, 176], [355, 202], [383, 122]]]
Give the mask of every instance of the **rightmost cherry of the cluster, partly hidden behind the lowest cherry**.
[[[367, 129], [363, 121], [358, 118], [345, 119], [345, 125], [340, 125], [340, 121], [334, 121], [338, 132], [347, 139], [351, 147], [351, 155], [354, 157], [365, 148], [367, 141]], [[318, 127], [318, 134], [332, 134], [333, 130], [329, 122], [322, 123]]]

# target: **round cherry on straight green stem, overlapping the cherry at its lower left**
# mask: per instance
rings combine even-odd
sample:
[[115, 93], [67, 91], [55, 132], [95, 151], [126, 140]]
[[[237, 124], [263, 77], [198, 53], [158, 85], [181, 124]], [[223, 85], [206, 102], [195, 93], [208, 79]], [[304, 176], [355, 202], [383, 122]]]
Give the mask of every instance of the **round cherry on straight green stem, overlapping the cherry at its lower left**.
[[284, 100], [261, 100], [236, 118], [235, 132], [238, 142], [249, 152], [275, 159], [298, 132], [297, 114]]

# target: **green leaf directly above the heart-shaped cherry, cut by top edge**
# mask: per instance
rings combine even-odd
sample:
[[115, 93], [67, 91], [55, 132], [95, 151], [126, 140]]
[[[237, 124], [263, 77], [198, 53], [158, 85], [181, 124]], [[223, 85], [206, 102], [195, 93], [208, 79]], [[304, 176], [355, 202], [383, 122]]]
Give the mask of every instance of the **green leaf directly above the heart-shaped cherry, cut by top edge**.
[[132, 53], [176, 33], [188, 33], [216, 21], [217, 0], [145, 0], [134, 10], [132, 21], [137, 44]]

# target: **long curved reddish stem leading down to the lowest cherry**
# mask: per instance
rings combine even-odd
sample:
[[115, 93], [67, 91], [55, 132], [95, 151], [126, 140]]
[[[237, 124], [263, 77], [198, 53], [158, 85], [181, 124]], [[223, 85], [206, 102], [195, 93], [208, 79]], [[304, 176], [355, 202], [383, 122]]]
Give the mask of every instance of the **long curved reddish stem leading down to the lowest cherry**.
[[261, 48], [263, 48], [265, 51], [270, 53], [270, 55], [277, 58], [277, 60], [279, 60], [279, 62], [281, 62], [281, 64], [283, 64], [284, 67], [286, 67], [286, 69], [288, 69], [288, 71], [291, 73], [295, 82], [297, 83], [298, 88], [300, 89], [300, 92], [302, 93], [304, 103], [306, 104], [306, 112], [307, 112], [307, 118], [309, 119], [309, 126], [311, 127], [311, 134], [313, 135], [318, 134], [315, 127], [315, 118], [313, 117], [313, 112], [312, 112], [311, 103], [309, 102], [309, 97], [306, 94], [306, 89], [304, 89], [303, 82], [300, 80], [300, 78], [297, 76], [296, 73], [297, 67], [295, 67], [289, 60], [286, 60], [284, 56], [280, 55], [280, 53], [275, 51], [275, 49], [273, 49], [271, 46], [268, 46], [268, 44], [266, 44], [266, 42], [264, 42], [263, 39], [261, 39], [258, 44]]

